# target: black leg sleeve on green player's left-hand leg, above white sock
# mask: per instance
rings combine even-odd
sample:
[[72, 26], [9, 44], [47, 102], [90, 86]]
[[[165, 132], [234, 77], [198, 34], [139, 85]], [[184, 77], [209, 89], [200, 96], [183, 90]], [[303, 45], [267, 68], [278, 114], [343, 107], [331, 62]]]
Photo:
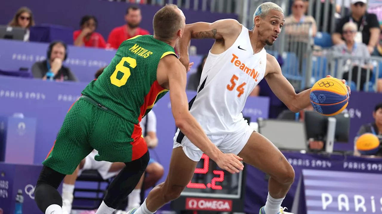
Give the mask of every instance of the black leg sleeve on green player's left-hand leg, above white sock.
[[52, 204], [62, 206], [62, 197], [57, 188], [64, 177], [64, 174], [43, 166], [34, 190], [34, 200], [42, 212], [45, 213], [45, 210]]

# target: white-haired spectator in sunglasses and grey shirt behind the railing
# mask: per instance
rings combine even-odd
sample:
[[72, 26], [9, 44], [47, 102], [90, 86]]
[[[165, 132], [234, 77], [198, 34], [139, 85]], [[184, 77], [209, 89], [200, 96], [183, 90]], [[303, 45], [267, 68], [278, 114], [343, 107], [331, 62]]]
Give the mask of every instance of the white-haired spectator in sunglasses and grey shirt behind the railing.
[[345, 43], [341, 43], [338, 45], [333, 46], [333, 55], [334, 56], [343, 56], [345, 58], [349, 58], [348, 60], [344, 60], [344, 71], [342, 78], [344, 80], [349, 80], [349, 69], [352, 67], [351, 72], [351, 81], [354, 83], [357, 83], [358, 81], [358, 67], [361, 67], [361, 80], [360, 80], [360, 90], [363, 91], [363, 87], [366, 83], [366, 77], [367, 77], [367, 67], [371, 69], [370, 76], [372, 75], [372, 69], [373, 66], [367, 65], [367, 62], [365, 60], [356, 60], [356, 59], [350, 59], [352, 56], [355, 57], [364, 57], [369, 58], [370, 53], [367, 49], [367, 46], [364, 43], [356, 42], [354, 37], [357, 33], [357, 25], [354, 22], [347, 22], [342, 27], [342, 35], [343, 38], [345, 38]]

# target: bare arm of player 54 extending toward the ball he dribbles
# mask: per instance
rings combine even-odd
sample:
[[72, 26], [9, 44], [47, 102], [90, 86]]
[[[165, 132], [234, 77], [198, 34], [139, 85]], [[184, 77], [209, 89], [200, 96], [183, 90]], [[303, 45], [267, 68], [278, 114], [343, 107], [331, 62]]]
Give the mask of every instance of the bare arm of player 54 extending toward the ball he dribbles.
[[277, 59], [267, 54], [267, 69], [265, 80], [272, 92], [280, 99], [292, 112], [299, 112], [310, 105], [310, 89], [296, 94], [295, 88], [283, 76]]

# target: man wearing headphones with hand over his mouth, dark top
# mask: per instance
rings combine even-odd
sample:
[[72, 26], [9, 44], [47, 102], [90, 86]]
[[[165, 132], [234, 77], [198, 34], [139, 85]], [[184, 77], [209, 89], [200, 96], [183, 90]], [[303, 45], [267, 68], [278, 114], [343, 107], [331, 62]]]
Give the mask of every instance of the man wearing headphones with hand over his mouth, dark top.
[[68, 67], [62, 65], [66, 60], [66, 44], [60, 41], [50, 43], [47, 51], [47, 59], [35, 62], [32, 65], [34, 78], [56, 81], [78, 81]]

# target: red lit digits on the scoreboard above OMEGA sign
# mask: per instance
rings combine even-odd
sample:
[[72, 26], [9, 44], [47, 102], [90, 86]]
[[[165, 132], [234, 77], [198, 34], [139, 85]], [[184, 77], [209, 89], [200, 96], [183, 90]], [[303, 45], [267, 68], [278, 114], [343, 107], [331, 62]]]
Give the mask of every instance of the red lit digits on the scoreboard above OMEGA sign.
[[[202, 158], [204, 160], [203, 162], [203, 168], [196, 168], [194, 173], [195, 174], [207, 174], [210, 164], [210, 158], [203, 154]], [[222, 190], [222, 186], [216, 185], [216, 182], [223, 182], [224, 181], [224, 172], [222, 170], [214, 170], [213, 171], [215, 175], [219, 175], [219, 177], [214, 177], [211, 180], [211, 184], [199, 184], [199, 183], [192, 183], [191, 181], [188, 183], [187, 188], [195, 188], [195, 189], [205, 189], [207, 187], [212, 188], [213, 190]]]

